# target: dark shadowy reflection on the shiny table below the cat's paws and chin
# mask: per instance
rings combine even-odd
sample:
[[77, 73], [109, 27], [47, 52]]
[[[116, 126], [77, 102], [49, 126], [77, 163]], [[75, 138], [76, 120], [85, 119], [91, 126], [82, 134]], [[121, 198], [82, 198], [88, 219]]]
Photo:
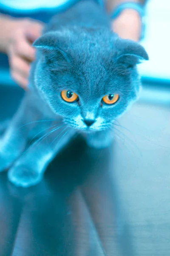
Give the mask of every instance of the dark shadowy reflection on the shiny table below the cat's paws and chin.
[[133, 256], [113, 161], [113, 148], [77, 138], [37, 186], [17, 188], [1, 173], [0, 255]]

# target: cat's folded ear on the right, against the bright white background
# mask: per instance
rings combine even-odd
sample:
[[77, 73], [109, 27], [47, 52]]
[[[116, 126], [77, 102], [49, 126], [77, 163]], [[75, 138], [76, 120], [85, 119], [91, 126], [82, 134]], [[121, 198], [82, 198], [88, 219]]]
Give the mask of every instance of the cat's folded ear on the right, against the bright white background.
[[116, 61], [127, 64], [127, 67], [133, 67], [143, 60], [149, 60], [144, 47], [131, 40], [118, 38], [116, 40], [116, 49]]

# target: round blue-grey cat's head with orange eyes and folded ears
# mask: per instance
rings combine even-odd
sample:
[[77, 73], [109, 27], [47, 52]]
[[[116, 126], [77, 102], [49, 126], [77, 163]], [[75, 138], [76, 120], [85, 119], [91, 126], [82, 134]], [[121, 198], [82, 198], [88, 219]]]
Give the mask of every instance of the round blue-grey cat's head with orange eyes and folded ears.
[[48, 32], [34, 42], [35, 86], [68, 125], [87, 131], [111, 127], [136, 99], [136, 64], [144, 48], [104, 29]]

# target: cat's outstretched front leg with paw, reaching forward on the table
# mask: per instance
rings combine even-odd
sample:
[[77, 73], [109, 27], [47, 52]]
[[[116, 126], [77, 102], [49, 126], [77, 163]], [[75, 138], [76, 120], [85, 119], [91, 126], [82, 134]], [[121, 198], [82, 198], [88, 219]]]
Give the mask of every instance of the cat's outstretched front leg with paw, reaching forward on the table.
[[46, 167], [75, 131], [65, 126], [28, 148], [8, 171], [8, 179], [16, 186], [28, 187], [40, 182]]

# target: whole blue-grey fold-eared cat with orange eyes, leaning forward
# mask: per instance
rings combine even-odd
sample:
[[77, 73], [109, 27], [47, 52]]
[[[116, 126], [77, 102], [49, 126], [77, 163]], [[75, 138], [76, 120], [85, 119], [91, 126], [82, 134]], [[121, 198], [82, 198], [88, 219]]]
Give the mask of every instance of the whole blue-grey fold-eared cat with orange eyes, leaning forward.
[[136, 64], [148, 60], [136, 42], [111, 30], [105, 10], [81, 0], [54, 16], [33, 46], [29, 90], [0, 139], [0, 171], [28, 187], [77, 133], [94, 148], [112, 142], [114, 121], [136, 100]]

